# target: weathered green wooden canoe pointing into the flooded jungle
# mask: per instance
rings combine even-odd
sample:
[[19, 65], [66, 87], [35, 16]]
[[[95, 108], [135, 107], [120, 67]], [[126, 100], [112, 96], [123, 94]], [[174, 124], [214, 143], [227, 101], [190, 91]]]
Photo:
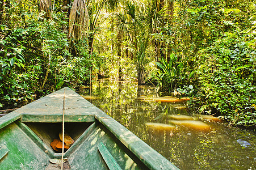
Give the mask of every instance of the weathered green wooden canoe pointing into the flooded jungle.
[[61, 159], [50, 145], [62, 130], [63, 105], [74, 139], [64, 152], [67, 169], [178, 169], [68, 87], [0, 118], [0, 169], [51, 169], [49, 160]]

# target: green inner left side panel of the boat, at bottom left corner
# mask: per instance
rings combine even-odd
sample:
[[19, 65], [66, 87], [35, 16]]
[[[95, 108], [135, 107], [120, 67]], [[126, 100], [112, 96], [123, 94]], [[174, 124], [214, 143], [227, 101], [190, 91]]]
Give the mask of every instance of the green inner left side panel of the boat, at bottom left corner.
[[49, 164], [49, 156], [14, 122], [0, 130], [0, 143], [10, 150], [0, 169], [45, 169]]

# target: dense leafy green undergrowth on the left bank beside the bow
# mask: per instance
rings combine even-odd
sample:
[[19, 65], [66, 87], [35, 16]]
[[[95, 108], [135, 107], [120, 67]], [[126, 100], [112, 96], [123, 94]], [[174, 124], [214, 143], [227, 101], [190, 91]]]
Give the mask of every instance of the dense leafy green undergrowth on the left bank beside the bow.
[[[64, 15], [51, 19], [44, 12], [24, 12], [24, 22], [1, 25], [0, 107], [17, 107], [64, 86], [77, 87], [90, 79], [91, 59], [84, 40], [70, 52]], [[25, 23], [25, 25], [24, 25]]]

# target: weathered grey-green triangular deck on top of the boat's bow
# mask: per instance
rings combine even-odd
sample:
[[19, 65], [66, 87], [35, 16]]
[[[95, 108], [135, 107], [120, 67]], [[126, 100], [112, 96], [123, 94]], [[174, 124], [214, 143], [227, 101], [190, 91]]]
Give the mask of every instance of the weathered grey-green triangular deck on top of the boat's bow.
[[[63, 109], [64, 90], [65, 92], [65, 114], [95, 114], [95, 106], [89, 101], [83, 99], [82, 96], [75, 93], [68, 87], [53, 92], [39, 100], [33, 101], [12, 113], [20, 114], [36, 114], [36, 115], [60, 115]], [[10, 114], [10, 113], [9, 113]], [[42, 120], [43, 121], [43, 120]]]

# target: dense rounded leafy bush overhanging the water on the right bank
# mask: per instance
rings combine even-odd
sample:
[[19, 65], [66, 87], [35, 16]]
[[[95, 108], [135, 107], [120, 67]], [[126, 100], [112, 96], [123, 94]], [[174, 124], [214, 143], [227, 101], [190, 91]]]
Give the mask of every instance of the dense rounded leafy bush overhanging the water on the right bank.
[[193, 103], [200, 105], [199, 112], [216, 113], [233, 125], [256, 124], [255, 43], [247, 36], [226, 32], [200, 50], [196, 69], [198, 100]]

